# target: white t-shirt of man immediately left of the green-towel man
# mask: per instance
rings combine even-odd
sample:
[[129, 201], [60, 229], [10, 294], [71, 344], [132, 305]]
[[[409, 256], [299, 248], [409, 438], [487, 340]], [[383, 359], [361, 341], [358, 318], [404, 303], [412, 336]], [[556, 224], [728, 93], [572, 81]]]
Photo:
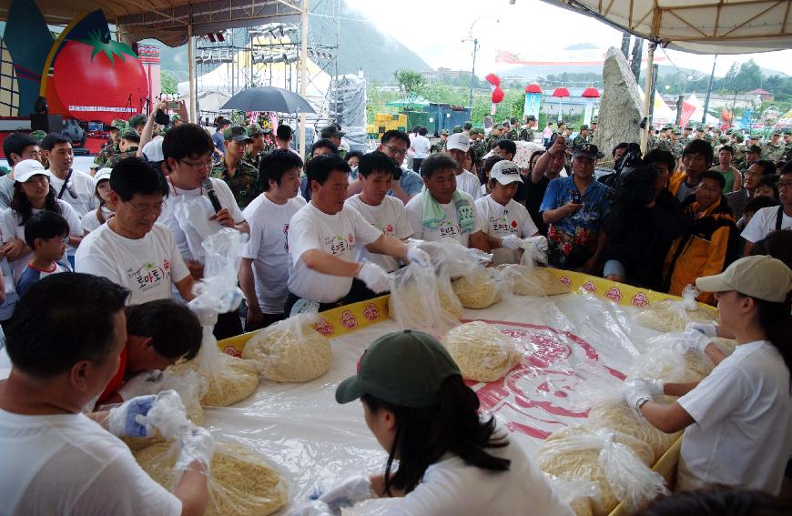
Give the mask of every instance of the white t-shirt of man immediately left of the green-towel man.
[[[407, 218], [407, 210], [401, 199], [385, 196], [380, 206], [371, 206], [360, 200], [360, 194], [356, 194], [347, 199], [344, 207], [351, 207], [371, 226], [379, 229], [385, 235], [403, 240], [412, 236], [412, 226]], [[370, 253], [369, 249], [359, 246], [355, 250], [355, 261], [369, 261], [376, 263], [385, 270], [396, 270], [399, 264], [396, 258]]]

